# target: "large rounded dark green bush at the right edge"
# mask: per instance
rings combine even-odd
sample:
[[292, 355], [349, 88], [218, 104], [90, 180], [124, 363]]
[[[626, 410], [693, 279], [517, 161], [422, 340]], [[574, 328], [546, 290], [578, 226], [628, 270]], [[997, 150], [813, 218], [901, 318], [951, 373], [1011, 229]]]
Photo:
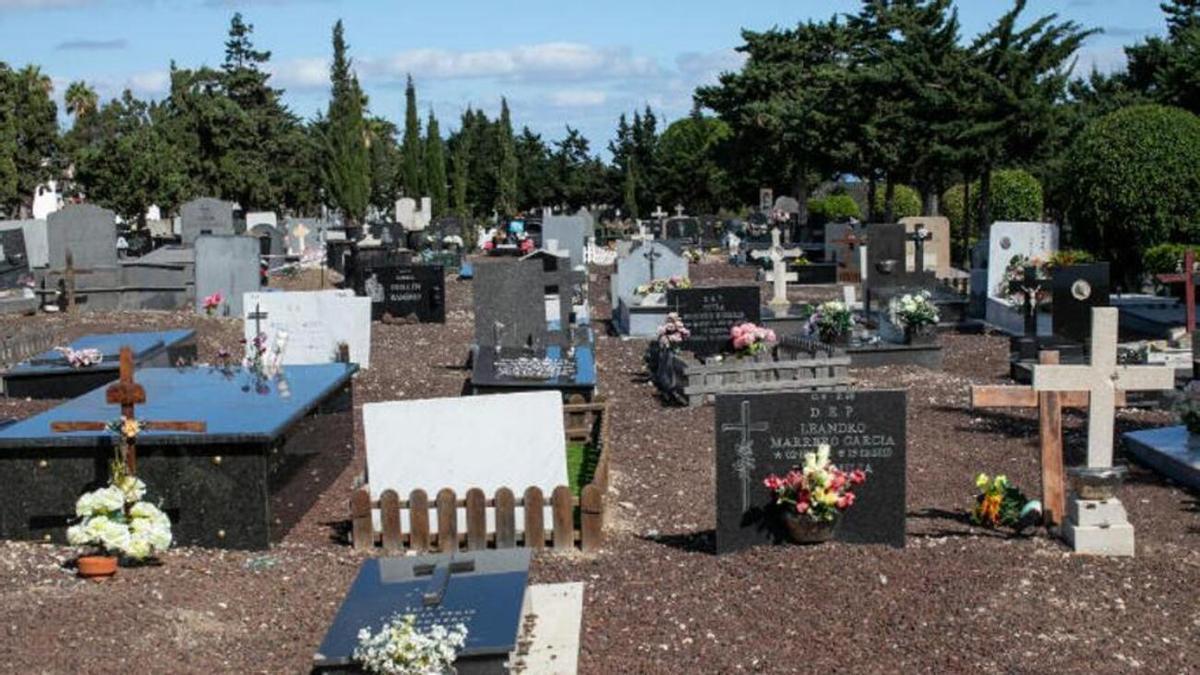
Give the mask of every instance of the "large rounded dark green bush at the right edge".
[[1067, 156], [1067, 216], [1079, 240], [1127, 281], [1144, 253], [1194, 240], [1200, 220], [1200, 118], [1178, 108], [1133, 106], [1090, 124]]

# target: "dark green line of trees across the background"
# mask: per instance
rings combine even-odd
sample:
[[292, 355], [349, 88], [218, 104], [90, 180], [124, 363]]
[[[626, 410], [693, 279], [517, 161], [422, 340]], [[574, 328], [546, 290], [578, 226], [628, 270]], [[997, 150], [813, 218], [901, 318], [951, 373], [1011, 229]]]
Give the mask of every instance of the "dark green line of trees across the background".
[[498, 117], [467, 109], [443, 137], [412, 79], [397, 127], [362, 94], [340, 23], [329, 108], [301, 120], [235, 14], [222, 65], [173, 64], [162, 101], [126, 92], [101, 106], [72, 83], [66, 132], [37, 67], [0, 67], [0, 205], [16, 213], [58, 179], [127, 219], [197, 195], [284, 213], [328, 205], [352, 220], [403, 195], [432, 197], [438, 214], [606, 203], [644, 217], [677, 202], [736, 209], [763, 186], [803, 209], [816, 186], [852, 175], [868, 181], [869, 220], [892, 220], [911, 186], [924, 213], [964, 214], [978, 232], [992, 220], [992, 177], [1024, 169], [1048, 215], [1069, 220], [1081, 198], [1069, 157], [1090, 125], [1142, 103], [1200, 109], [1200, 0], [1164, 2], [1163, 37], [1128, 47], [1124, 71], [1085, 78], [1075, 59], [1094, 31], [1028, 17], [1026, 5], [1013, 0], [973, 37], [952, 0], [863, 0], [856, 13], [743, 31], [744, 66], [698, 89], [692, 113], [665, 129], [649, 108], [622, 115], [608, 161], [570, 126], [553, 141], [517, 130], [503, 100]]

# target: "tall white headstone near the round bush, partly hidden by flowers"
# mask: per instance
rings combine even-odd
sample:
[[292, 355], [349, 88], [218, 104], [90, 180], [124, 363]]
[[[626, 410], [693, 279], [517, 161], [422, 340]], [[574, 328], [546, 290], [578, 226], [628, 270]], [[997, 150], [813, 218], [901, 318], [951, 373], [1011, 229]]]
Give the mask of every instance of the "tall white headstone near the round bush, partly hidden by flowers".
[[[1001, 221], [992, 223], [988, 241], [988, 323], [998, 325], [1014, 335], [1021, 335], [1025, 331], [1025, 316], [1021, 307], [1012, 306], [1000, 295], [1004, 270], [1016, 256], [1045, 261], [1057, 251], [1058, 226], [1045, 222]], [[1049, 317], [1046, 317], [1046, 323], [1049, 323]], [[1042, 334], [1043, 330], [1039, 328], [1038, 333]]]

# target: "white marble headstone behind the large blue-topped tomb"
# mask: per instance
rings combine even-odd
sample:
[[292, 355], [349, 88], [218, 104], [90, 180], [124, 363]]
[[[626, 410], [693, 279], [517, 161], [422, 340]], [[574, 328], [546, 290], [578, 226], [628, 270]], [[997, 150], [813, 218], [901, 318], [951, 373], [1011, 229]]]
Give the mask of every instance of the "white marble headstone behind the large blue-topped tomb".
[[[371, 299], [353, 291], [288, 291], [246, 293], [242, 334], [247, 344], [257, 327], [274, 345], [287, 333], [284, 365], [325, 364], [338, 360], [342, 345], [350, 363], [371, 368]], [[258, 316], [256, 322], [254, 315]]]

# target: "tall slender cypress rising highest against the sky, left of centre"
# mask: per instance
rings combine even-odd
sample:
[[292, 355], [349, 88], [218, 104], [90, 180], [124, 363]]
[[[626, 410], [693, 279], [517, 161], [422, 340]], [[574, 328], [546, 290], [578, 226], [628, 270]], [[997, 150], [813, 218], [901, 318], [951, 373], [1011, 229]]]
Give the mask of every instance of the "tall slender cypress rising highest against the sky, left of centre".
[[342, 210], [347, 227], [355, 227], [366, 217], [371, 197], [371, 160], [362, 120], [362, 90], [346, 52], [346, 37], [338, 19], [334, 24], [334, 64], [329, 73], [332, 100], [329, 102], [329, 132], [325, 137], [325, 178], [329, 196]]

